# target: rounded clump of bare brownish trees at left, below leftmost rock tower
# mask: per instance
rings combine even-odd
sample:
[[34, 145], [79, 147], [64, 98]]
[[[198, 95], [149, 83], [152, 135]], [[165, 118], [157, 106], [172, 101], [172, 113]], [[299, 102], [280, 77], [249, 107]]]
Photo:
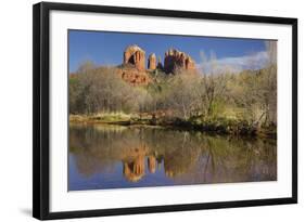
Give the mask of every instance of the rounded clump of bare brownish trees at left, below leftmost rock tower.
[[140, 110], [148, 92], [125, 82], [111, 67], [81, 68], [69, 77], [69, 113], [96, 114], [99, 112]]

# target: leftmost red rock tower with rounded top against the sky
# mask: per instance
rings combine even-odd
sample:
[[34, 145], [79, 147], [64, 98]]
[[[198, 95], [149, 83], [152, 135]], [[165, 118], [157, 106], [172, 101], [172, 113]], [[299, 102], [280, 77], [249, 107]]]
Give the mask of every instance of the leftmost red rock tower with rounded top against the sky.
[[124, 51], [124, 64], [134, 65], [138, 70], [145, 70], [145, 52], [137, 44], [127, 47]]

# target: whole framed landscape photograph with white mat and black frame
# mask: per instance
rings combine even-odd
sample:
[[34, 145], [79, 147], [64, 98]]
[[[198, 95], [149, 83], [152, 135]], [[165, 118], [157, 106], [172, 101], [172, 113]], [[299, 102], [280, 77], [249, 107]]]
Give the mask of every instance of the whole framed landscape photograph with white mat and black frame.
[[297, 203], [297, 19], [34, 5], [33, 214]]

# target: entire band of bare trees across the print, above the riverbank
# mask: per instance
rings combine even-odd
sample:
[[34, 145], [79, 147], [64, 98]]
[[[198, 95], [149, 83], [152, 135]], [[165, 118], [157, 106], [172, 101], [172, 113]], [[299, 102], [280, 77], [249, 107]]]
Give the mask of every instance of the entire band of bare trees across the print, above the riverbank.
[[114, 67], [86, 63], [69, 77], [69, 112], [164, 114], [167, 118], [199, 123], [231, 119], [256, 128], [276, 127], [277, 64], [275, 47], [269, 48], [270, 60], [259, 70], [232, 73], [216, 66], [208, 73], [199, 70], [198, 75], [186, 70], [166, 75], [155, 70], [150, 74], [153, 81], [147, 87], [125, 82]]

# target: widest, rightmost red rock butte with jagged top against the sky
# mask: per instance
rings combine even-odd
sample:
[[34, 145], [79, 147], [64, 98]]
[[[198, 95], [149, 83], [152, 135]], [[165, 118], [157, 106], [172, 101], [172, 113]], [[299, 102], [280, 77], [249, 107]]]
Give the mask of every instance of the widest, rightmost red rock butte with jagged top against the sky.
[[169, 49], [167, 52], [165, 52], [164, 71], [167, 74], [175, 73], [177, 68], [194, 70], [195, 62], [185, 52], [180, 52], [176, 49]]

